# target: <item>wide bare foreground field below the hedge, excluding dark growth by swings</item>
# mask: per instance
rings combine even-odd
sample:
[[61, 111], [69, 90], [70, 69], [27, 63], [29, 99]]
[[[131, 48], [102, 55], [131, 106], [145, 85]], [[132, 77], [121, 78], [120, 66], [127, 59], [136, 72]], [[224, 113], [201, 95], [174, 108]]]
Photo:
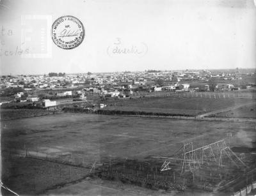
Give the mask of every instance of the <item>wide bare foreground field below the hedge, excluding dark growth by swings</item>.
[[[83, 179], [94, 162], [100, 165], [118, 158], [143, 162], [149, 156], [170, 156], [190, 141], [199, 147], [232, 135], [227, 141], [234, 151], [250, 154], [256, 147], [254, 123], [65, 113], [3, 121], [1, 130], [3, 182], [23, 194]], [[26, 151], [30, 158], [24, 158]], [[67, 166], [70, 160], [83, 166], [81, 170]], [[83, 186], [80, 191], [85, 191]]]

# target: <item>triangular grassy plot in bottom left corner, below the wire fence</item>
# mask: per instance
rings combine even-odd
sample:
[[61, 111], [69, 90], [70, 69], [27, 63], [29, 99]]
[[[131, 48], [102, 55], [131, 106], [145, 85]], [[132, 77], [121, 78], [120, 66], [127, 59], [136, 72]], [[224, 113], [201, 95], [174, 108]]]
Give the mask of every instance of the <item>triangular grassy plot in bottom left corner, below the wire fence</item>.
[[19, 195], [36, 195], [83, 179], [88, 169], [2, 154], [2, 181]]

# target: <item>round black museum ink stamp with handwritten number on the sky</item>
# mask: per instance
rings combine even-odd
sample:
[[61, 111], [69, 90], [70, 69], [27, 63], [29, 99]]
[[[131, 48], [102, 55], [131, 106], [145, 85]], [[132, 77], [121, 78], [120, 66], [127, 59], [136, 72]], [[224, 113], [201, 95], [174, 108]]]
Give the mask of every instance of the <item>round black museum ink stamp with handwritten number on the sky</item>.
[[74, 49], [83, 40], [84, 26], [76, 17], [63, 16], [52, 24], [52, 41], [61, 49]]

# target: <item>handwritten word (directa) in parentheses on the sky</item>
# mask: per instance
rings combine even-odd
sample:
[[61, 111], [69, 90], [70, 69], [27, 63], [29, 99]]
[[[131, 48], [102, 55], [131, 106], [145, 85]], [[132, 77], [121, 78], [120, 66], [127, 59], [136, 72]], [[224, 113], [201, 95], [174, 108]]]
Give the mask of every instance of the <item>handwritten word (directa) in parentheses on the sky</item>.
[[148, 52], [148, 46], [146, 43], [141, 42], [139, 46], [131, 45], [130, 47], [124, 47], [116, 44], [107, 48], [107, 54], [109, 57], [113, 56], [138, 56], [143, 57]]

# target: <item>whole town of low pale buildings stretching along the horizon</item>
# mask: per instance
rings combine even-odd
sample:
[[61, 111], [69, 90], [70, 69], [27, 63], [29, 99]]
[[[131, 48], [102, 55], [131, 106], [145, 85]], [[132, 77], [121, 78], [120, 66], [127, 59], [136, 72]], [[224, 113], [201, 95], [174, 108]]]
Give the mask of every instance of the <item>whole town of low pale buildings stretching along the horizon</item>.
[[[49, 75], [8, 75], [0, 78], [0, 86], [1, 96], [6, 96], [6, 89], [20, 89], [20, 91], [12, 95], [19, 102], [37, 102], [39, 97], [35, 96], [35, 94], [44, 91], [54, 92], [52, 96], [56, 98], [76, 96], [80, 100], [86, 100], [86, 93], [125, 97], [131, 96], [138, 91], [147, 91], [148, 93], [153, 91], [211, 91], [211, 86], [214, 86], [214, 89], [239, 90], [239, 86], [228, 84], [228, 81], [242, 80], [243, 75], [254, 74], [252, 72], [242, 74], [237, 70], [232, 72], [210, 72], [208, 70], [160, 72], [157, 70], [145, 70], [145, 72], [88, 72], [65, 74], [60, 77], [50, 77]], [[222, 84], [218, 84], [218, 82], [211, 84], [211, 80]], [[200, 85], [200, 83], [203, 85]], [[54, 104], [49, 101], [44, 102], [45, 105]]]

